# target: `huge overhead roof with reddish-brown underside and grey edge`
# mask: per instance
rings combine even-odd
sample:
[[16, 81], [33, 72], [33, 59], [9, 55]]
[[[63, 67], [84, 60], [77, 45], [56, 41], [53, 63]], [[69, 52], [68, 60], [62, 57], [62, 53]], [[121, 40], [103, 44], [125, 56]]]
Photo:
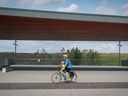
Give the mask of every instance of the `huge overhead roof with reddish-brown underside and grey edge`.
[[0, 8], [0, 39], [128, 41], [128, 17]]

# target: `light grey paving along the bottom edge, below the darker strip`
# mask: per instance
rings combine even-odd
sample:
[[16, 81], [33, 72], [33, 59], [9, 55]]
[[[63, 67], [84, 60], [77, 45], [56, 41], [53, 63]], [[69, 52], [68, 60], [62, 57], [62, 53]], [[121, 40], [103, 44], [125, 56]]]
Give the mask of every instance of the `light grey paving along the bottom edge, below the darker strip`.
[[128, 89], [0, 90], [0, 96], [128, 96]]

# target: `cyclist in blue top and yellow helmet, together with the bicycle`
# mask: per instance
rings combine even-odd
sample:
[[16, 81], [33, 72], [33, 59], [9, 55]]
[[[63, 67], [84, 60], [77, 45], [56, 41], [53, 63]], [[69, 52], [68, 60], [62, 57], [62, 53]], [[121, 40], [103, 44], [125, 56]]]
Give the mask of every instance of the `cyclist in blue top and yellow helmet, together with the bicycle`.
[[[58, 72], [52, 74], [51, 80], [52, 82], [59, 82], [62, 80], [71, 79], [71, 81], [76, 81], [77, 74], [71, 70], [72, 64], [68, 55], [63, 55], [63, 61], [61, 61], [60, 65], [58, 66]], [[66, 75], [67, 74], [67, 75]], [[68, 77], [67, 77], [68, 76]]]

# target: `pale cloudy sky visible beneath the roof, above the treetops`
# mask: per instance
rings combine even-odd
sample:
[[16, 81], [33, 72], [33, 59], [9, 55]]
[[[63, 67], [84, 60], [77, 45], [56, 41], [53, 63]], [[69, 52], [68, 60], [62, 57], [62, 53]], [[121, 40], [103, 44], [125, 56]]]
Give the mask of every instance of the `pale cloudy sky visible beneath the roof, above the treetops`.
[[[0, 40], [0, 52], [14, 52], [14, 40]], [[38, 49], [46, 49], [48, 53], [60, 52], [62, 47], [72, 49], [78, 47], [84, 49], [94, 49], [99, 53], [118, 53], [118, 41], [23, 41], [18, 40], [17, 52], [34, 53]], [[121, 53], [128, 53], [128, 42], [121, 42]]]

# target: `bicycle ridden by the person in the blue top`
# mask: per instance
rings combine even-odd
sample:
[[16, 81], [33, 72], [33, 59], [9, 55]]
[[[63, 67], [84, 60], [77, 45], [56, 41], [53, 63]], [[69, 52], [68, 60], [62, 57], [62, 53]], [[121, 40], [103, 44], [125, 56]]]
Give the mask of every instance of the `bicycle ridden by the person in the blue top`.
[[66, 80], [75, 82], [77, 80], [77, 74], [74, 71], [71, 70], [70, 72], [68, 72], [68, 74], [65, 73], [66, 78], [64, 79], [63, 73], [60, 71], [60, 68], [57, 67], [57, 69], [58, 69], [58, 72], [53, 73], [51, 76], [51, 81], [53, 83], [58, 83]]

